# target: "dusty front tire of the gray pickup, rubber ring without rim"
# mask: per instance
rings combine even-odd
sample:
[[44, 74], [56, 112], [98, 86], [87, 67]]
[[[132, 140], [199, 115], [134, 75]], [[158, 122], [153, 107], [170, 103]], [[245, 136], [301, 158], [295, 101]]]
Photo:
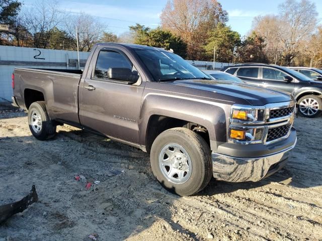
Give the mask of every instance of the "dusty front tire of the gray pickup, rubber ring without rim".
[[[191, 176], [181, 184], [171, 182], [163, 174], [159, 166], [160, 152], [171, 143], [183, 147], [191, 159]], [[157, 181], [167, 190], [180, 196], [190, 196], [198, 193], [208, 185], [212, 177], [211, 151], [209, 146], [202, 137], [186, 128], [173, 128], [158, 135], [151, 147], [150, 162], [152, 172]]]

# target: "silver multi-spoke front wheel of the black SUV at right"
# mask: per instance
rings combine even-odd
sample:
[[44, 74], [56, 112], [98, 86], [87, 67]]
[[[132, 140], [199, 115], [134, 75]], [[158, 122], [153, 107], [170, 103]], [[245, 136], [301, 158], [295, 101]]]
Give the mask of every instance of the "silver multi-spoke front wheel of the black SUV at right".
[[297, 103], [298, 112], [304, 117], [313, 118], [321, 114], [322, 99], [316, 95], [305, 95]]

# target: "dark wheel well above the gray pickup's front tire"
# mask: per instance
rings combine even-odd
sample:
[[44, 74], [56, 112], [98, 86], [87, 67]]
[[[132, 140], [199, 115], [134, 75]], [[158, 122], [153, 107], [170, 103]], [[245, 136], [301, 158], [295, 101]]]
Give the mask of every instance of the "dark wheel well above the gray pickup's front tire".
[[196, 123], [185, 121], [184, 119], [177, 119], [163, 115], [152, 115], [148, 121], [146, 130], [146, 151], [149, 152], [151, 150], [152, 143], [160, 133], [175, 127], [183, 127], [196, 132], [206, 141], [206, 143], [210, 147], [209, 134], [208, 130], [205, 127]]

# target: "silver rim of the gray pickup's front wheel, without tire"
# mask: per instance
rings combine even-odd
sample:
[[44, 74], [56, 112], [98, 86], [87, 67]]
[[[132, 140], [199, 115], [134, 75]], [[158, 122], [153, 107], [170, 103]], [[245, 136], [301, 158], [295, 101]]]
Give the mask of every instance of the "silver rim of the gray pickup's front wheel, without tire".
[[183, 184], [191, 176], [191, 158], [182, 146], [170, 143], [164, 146], [158, 156], [159, 168], [169, 182]]

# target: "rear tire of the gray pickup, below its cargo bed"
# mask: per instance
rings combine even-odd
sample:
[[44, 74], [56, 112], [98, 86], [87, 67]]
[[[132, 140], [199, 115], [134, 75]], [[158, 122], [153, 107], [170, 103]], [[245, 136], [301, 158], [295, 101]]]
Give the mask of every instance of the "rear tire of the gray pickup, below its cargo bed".
[[[32, 125], [32, 118], [35, 116], [40, 116], [41, 127], [38, 130], [38, 126]], [[33, 116], [34, 117], [33, 117]], [[35, 119], [35, 118], [34, 118]], [[48, 140], [55, 136], [56, 134], [56, 125], [53, 124], [50, 117], [48, 116], [45, 101], [33, 102], [28, 109], [28, 125], [32, 135], [40, 141]], [[40, 126], [40, 125], [39, 125]]]

